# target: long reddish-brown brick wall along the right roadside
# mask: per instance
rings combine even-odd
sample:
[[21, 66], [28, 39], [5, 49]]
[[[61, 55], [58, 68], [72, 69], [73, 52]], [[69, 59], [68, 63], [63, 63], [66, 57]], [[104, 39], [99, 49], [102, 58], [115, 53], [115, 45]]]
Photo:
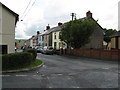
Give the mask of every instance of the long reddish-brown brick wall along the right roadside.
[[120, 50], [83, 50], [83, 49], [66, 49], [61, 54], [71, 54], [75, 56], [106, 59], [106, 60], [120, 60]]

